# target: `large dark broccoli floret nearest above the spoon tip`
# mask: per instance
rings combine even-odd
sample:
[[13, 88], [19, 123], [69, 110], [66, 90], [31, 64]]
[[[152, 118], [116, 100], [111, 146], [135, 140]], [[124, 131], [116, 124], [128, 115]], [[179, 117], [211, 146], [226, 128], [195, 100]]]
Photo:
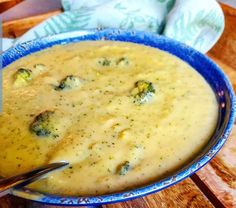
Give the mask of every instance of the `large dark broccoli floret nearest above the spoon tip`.
[[30, 131], [41, 137], [58, 137], [56, 134], [54, 111], [46, 110], [34, 118]]

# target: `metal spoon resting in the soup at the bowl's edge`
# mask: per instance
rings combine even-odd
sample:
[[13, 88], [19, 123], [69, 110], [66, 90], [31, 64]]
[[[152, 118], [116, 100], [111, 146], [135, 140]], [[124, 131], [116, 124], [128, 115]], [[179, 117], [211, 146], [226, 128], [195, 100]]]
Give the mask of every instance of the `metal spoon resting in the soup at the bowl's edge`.
[[42, 178], [45, 174], [65, 167], [68, 164], [67, 162], [51, 163], [17, 176], [0, 179], [0, 197], [9, 194], [13, 188], [26, 186]]

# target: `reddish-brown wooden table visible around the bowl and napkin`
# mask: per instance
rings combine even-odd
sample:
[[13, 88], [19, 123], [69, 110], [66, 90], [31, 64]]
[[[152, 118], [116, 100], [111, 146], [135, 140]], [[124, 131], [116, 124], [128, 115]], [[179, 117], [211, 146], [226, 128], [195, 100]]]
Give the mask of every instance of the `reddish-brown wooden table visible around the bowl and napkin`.
[[[41, 7], [35, 6], [39, 4]], [[42, 5], [46, 5], [42, 7]], [[221, 5], [225, 13], [225, 31], [207, 53], [229, 76], [236, 90], [236, 10]], [[37, 10], [32, 8], [37, 7]], [[27, 11], [25, 8], [28, 8]], [[31, 8], [31, 9], [29, 9]], [[59, 0], [27, 0], [2, 13], [4, 37], [17, 37], [44, 19], [61, 12]], [[0, 208], [56, 208], [6, 196]], [[236, 126], [217, 156], [184, 181], [158, 193], [135, 200], [104, 205], [103, 208], [236, 208]]]

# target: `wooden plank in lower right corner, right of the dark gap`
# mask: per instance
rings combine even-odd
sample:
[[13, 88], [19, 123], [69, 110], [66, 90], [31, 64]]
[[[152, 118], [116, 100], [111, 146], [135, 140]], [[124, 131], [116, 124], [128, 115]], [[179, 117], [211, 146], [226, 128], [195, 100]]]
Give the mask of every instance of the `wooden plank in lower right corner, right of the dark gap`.
[[225, 207], [236, 207], [236, 125], [223, 149], [197, 175]]

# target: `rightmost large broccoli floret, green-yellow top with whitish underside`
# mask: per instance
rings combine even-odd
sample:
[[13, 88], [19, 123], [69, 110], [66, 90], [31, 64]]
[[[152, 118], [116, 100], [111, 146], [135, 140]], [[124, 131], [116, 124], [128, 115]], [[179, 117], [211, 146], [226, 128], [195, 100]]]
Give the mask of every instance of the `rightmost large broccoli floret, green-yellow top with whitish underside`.
[[135, 87], [131, 94], [134, 97], [134, 103], [144, 104], [153, 97], [155, 91], [156, 90], [151, 82], [139, 80], [135, 83]]

